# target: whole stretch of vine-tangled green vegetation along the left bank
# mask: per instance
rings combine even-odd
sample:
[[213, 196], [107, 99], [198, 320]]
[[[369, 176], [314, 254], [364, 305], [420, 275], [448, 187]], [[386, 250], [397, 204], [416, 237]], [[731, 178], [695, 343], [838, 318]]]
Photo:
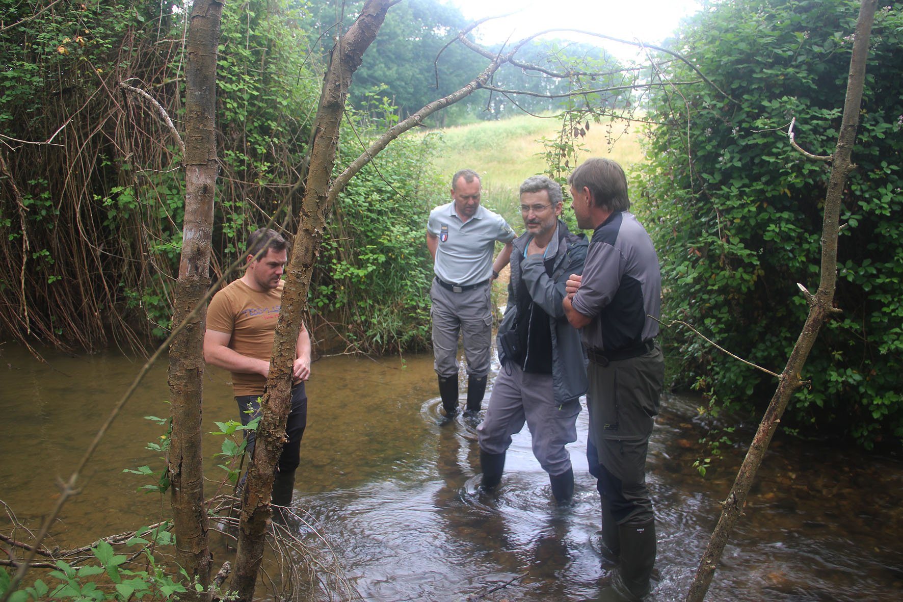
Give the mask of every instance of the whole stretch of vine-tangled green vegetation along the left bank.
[[[225, 5], [214, 277], [237, 259], [250, 231], [271, 219], [287, 220], [290, 232], [296, 228], [301, 189], [295, 184], [303, 178], [321, 87], [321, 62], [301, 26], [311, 21], [305, 6], [287, 0]], [[186, 9], [116, 0], [37, 10], [0, 0], [0, 245], [8, 258], [0, 270], [0, 331], [62, 348], [138, 346], [148, 335], [167, 334], [170, 325], [184, 175], [176, 137], [158, 109], [119, 84], [147, 92], [182, 131]], [[348, 122], [356, 119], [349, 115]], [[349, 156], [356, 154], [350, 129], [343, 144]], [[349, 333], [346, 325], [335, 326], [357, 350], [424, 344], [419, 280], [401, 282], [397, 269], [394, 277], [385, 272], [395, 258], [428, 257], [425, 215], [394, 202], [397, 195], [423, 202], [414, 193], [420, 169], [410, 153], [420, 150], [399, 146], [377, 164], [381, 175], [368, 172], [352, 183], [327, 232], [334, 236], [326, 260], [313, 274], [317, 315], [348, 318]], [[379, 229], [357, 223], [361, 213], [347, 199], [361, 195], [385, 203], [377, 212], [386, 217]], [[342, 215], [346, 208], [354, 217]], [[395, 224], [386, 214], [392, 211], [404, 212]], [[340, 298], [324, 294], [333, 283]], [[333, 310], [359, 307], [327, 315], [321, 298]]]

